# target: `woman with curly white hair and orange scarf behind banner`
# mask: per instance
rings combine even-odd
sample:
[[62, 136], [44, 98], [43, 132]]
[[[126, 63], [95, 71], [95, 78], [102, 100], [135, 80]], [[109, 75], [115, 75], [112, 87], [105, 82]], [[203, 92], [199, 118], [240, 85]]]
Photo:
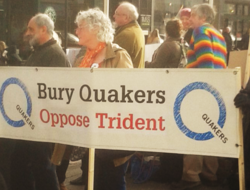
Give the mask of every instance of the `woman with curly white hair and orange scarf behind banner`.
[[[112, 43], [114, 29], [110, 19], [99, 8], [80, 11], [75, 22], [79, 45], [86, 47], [86, 53], [76, 61], [74, 66], [80, 68], [133, 68], [127, 51]], [[125, 173], [128, 160], [133, 152], [96, 149], [95, 154], [95, 190], [125, 190]], [[86, 187], [88, 155], [89, 152], [86, 151], [82, 158], [82, 176], [80, 177], [80, 184], [85, 184]], [[77, 183], [75, 183], [76, 180]], [[76, 180], [71, 184], [78, 185], [79, 180]]]

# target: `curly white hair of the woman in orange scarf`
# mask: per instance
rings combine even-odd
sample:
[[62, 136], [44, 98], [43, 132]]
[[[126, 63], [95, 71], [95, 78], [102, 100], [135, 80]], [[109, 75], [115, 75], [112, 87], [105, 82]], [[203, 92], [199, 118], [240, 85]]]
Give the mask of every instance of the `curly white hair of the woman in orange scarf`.
[[99, 8], [80, 11], [76, 16], [75, 23], [79, 25], [83, 21], [88, 25], [90, 31], [98, 27], [99, 30], [96, 36], [98, 41], [113, 42], [115, 30], [110, 19]]

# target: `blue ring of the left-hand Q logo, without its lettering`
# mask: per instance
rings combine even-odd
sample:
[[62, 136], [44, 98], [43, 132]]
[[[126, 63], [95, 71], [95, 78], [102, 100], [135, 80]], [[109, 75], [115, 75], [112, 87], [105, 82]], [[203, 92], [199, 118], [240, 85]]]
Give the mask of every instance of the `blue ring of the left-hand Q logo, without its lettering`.
[[27, 110], [26, 110], [26, 113], [28, 116], [31, 115], [31, 111], [32, 111], [32, 102], [31, 102], [31, 98], [30, 98], [30, 95], [27, 91], [27, 88], [26, 86], [17, 78], [9, 78], [7, 79], [2, 87], [1, 87], [1, 91], [0, 91], [0, 110], [2, 112], [2, 115], [5, 119], [5, 121], [13, 126], [13, 127], [22, 127], [24, 126], [25, 122], [23, 120], [19, 120], [19, 121], [14, 121], [12, 120], [11, 118], [9, 118], [9, 116], [6, 114], [5, 112], [5, 109], [4, 109], [4, 103], [3, 103], [3, 97], [4, 97], [4, 92], [6, 90], [6, 88], [11, 85], [11, 84], [15, 84], [15, 85], [18, 85], [24, 92], [25, 94], [25, 97], [26, 97], [26, 100], [27, 100]]

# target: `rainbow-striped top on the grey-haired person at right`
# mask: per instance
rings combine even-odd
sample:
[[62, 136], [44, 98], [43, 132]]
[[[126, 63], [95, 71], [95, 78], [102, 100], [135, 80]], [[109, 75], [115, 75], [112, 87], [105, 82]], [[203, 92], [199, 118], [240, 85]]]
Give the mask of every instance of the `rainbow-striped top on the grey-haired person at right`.
[[226, 68], [226, 43], [224, 37], [211, 25], [194, 29], [186, 68]]

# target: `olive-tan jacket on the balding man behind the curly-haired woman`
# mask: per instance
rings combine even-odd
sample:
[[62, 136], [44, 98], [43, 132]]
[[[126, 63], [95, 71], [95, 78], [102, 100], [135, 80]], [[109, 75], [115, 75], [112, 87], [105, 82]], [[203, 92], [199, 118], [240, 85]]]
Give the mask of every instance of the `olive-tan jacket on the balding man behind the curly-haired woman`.
[[117, 28], [114, 43], [127, 50], [134, 68], [144, 68], [145, 39], [137, 21]]

